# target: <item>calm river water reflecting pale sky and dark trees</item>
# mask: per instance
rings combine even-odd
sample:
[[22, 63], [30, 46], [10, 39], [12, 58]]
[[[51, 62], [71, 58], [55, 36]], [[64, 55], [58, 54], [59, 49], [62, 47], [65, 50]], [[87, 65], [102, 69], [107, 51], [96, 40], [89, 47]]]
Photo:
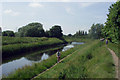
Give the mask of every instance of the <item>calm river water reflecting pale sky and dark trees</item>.
[[[62, 48], [61, 51], [66, 51], [75, 45], [81, 45], [84, 44], [83, 42], [72, 42], [71, 44], [68, 44]], [[8, 75], [12, 72], [14, 72], [18, 68], [22, 68], [25, 65], [32, 65], [33, 63], [41, 62], [45, 59], [48, 59], [51, 55], [55, 54], [57, 51], [48, 51], [44, 53], [38, 53], [38, 54], [30, 54], [24, 57], [21, 57], [16, 60], [9, 61], [7, 63], [3, 63], [0, 68], [2, 67], [2, 74]]]

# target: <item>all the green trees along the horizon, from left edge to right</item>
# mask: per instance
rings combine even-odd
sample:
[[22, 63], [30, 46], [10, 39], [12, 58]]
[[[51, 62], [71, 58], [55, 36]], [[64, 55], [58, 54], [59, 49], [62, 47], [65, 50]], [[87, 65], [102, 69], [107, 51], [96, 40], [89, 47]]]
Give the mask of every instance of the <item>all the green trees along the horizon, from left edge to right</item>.
[[[111, 42], [118, 43], [120, 41], [120, 1], [110, 6], [108, 18], [105, 25], [97, 23], [92, 24], [88, 33], [79, 30], [74, 35], [68, 34], [69, 37], [87, 36], [92, 39], [108, 38]], [[18, 29], [18, 32], [3, 31], [3, 36], [19, 36], [19, 37], [57, 37], [63, 36], [61, 26], [54, 25], [50, 30], [45, 31], [41, 23], [30, 23]]]

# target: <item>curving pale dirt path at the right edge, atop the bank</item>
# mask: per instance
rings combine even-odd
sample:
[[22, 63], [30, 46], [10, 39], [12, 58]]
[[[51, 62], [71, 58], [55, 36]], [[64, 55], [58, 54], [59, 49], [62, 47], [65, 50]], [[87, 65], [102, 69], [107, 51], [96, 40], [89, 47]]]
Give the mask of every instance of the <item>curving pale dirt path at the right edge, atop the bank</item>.
[[119, 80], [120, 80], [120, 77], [119, 77], [119, 75], [118, 75], [118, 67], [119, 67], [119, 65], [118, 65], [118, 60], [119, 60], [119, 58], [116, 56], [116, 54], [115, 54], [115, 52], [113, 51], [113, 50], [111, 50], [110, 48], [108, 48], [108, 50], [110, 51], [110, 53], [112, 54], [112, 57], [113, 57], [113, 60], [114, 60], [114, 64], [115, 64], [115, 69], [116, 69], [116, 76], [115, 76], [115, 78], [118, 78]]

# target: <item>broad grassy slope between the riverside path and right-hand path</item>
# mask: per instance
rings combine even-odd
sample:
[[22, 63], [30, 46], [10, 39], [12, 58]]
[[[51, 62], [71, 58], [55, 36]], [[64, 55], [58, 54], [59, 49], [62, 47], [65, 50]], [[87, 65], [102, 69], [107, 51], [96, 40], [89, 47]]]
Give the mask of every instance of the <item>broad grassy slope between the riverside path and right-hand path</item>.
[[112, 56], [104, 43], [93, 41], [79, 47], [61, 63], [37, 78], [114, 78]]

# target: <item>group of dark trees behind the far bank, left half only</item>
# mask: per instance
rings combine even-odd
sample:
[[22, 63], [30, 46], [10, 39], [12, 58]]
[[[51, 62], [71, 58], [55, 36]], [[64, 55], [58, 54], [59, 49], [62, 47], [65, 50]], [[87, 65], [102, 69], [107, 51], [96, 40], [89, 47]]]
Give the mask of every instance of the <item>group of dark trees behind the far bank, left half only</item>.
[[10, 37], [57, 37], [61, 38], [63, 36], [61, 26], [54, 25], [50, 30], [45, 31], [41, 23], [29, 23], [18, 29], [18, 32], [13, 31], [3, 31], [3, 36]]

